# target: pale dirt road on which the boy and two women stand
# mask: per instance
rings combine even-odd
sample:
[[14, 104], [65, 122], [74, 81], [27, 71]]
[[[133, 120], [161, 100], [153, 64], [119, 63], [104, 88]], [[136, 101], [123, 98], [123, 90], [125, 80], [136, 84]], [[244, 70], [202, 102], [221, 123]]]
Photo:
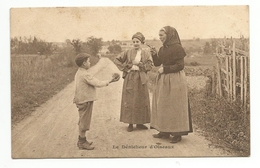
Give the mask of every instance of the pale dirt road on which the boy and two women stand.
[[[198, 157], [230, 156], [196, 130], [177, 144], [169, 139], [155, 139], [156, 130], [126, 131], [127, 125], [119, 122], [123, 80], [98, 89], [94, 103], [92, 123], [87, 133], [95, 150], [79, 150], [78, 113], [72, 103], [74, 83], [37, 108], [32, 116], [13, 125], [13, 158], [89, 158], [89, 157]], [[106, 95], [106, 96], [103, 96]], [[149, 125], [147, 125], [149, 126]], [[128, 148], [125, 148], [127, 147]], [[133, 147], [135, 149], [133, 149]], [[162, 148], [163, 147], [163, 148]]]

